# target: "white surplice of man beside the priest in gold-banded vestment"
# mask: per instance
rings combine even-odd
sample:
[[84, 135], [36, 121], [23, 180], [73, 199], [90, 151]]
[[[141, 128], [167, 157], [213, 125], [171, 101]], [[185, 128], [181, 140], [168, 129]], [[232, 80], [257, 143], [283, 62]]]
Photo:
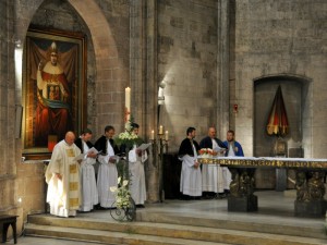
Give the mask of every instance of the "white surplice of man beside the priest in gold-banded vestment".
[[[82, 140], [83, 152], [87, 152], [89, 147]], [[82, 184], [82, 204], [81, 211], [90, 211], [94, 205], [99, 203], [98, 189], [96, 184], [95, 171], [93, 164], [96, 163], [95, 158], [88, 158], [85, 155], [81, 163], [81, 184]]]

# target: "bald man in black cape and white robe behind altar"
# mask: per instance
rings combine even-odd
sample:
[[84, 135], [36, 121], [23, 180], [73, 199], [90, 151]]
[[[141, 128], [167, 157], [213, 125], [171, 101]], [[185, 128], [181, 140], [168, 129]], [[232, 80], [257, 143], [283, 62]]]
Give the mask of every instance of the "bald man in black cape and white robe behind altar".
[[[199, 148], [210, 148], [216, 151], [225, 152], [226, 146], [216, 137], [216, 128], [209, 127], [208, 136], [199, 142]], [[218, 152], [219, 154], [219, 152]], [[223, 168], [219, 164], [203, 164], [202, 166], [202, 191], [204, 197], [223, 196], [225, 193]]]

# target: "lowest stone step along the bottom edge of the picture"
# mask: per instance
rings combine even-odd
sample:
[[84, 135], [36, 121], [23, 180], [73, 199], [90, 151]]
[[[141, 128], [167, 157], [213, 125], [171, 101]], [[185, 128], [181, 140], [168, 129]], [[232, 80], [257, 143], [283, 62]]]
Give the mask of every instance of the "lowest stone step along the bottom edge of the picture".
[[[165, 236], [140, 235], [122, 232], [109, 232], [77, 228], [49, 226], [28, 223], [25, 228], [25, 235], [52, 238], [64, 238], [83, 242], [97, 242], [102, 244], [123, 245], [198, 245], [198, 241], [171, 238]], [[228, 245], [226, 243], [204, 242], [203, 245]]]

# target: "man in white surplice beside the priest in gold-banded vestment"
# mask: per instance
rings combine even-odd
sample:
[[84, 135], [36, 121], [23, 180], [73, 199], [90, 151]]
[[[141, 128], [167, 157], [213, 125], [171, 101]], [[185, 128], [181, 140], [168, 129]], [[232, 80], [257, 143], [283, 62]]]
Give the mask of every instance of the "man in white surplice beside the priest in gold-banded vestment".
[[94, 206], [99, 203], [98, 189], [94, 164], [96, 163], [97, 150], [93, 148], [92, 131], [85, 128], [81, 136], [75, 140], [75, 145], [84, 155], [81, 163], [81, 185], [82, 185], [82, 204], [80, 211], [92, 211]]

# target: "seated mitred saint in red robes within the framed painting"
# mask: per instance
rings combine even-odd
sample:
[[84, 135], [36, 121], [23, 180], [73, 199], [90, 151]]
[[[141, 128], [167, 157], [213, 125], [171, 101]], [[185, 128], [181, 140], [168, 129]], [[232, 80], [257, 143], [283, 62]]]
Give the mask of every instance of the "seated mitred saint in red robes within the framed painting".
[[35, 145], [43, 146], [48, 144], [48, 135], [61, 139], [68, 131], [73, 131], [69, 82], [58, 62], [55, 41], [50, 46], [50, 61], [39, 62], [36, 77]]

